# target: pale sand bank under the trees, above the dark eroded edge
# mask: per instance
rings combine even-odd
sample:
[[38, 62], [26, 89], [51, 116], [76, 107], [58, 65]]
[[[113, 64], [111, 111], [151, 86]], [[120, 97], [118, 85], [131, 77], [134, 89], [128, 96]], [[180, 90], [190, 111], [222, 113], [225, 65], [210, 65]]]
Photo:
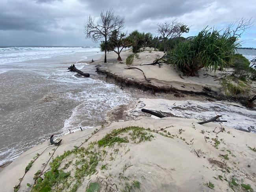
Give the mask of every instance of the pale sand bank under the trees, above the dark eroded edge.
[[[133, 79], [137, 82], [145, 82], [144, 76], [141, 71], [137, 69], [127, 70], [128, 66], [125, 64], [125, 59], [128, 55], [131, 55], [131, 50], [126, 50], [121, 53], [121, 58], [123, 63], [118, 63], [116, 61], [117, 54], [109, 53], [107, 55], [107, 64], [102, 63], [102, 60], [98, 61], [101, 65], [101, 69], [111, 72], [112, 74], [127, 78]], [[211, 90], [225, 94], [225, 91], [219, 80], [221, 77], [224, 77], [226, 74], [231, 74], [232, 69], [227, 69], [226, 71], [216, 72], [210, 70], [199, 70], [198, 77], [187, 77], [183, 76], [182, 72], [175, 68], [171, 68], [169, 65], [163, 64], [161, 68], [158, 65], [144, 65], [152, 63], [156, 58], [159, 58], [163, 55], [163, 52], [140, 52], [139, 59], [134, 57], [132, 63], [133, 67], [140, 68], [144, 71], [147, 79], [151, 81], [151, 85], [156, 85], [158, 87], [172, 87], [178, 90], [192, 91], [192, 92], [202, 92], [204, 87], [210, 87]], [[101, 58], [102, 59], [102, 58]], [[244, 93], [244, 96], [254, 96], [256, 94], [256, 82], [253, 81], [250, 83], [252, 89]]]

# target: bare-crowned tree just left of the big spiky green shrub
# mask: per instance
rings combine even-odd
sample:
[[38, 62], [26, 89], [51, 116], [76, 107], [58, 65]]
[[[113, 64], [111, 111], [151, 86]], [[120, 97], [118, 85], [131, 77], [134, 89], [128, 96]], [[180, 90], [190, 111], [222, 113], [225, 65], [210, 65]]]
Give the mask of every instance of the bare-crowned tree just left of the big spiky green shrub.
[[189, 28], [182, 22], [177, 22], [174, 18], [171, 22], [165, 21], [164, 23], [157, 24], [157, 32], [163, 37], [163, 52], [166, 52], [167, 44], [166, 40], [168, 38], [172, 39], [174, 37], [180, 37], [182, 33], [188, 33]]

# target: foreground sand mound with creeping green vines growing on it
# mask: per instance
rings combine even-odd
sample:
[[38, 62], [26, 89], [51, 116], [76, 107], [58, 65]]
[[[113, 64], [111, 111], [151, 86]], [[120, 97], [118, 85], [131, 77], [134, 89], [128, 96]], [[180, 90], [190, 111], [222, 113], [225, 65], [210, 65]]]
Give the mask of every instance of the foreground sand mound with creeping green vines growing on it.
[[[84, 192], [85, 188], [89, 186], [89, 182], [99, 183], [100, 191], [110, 191], [110, 188], [112, 191], [121, 191], [121, 189], [128, 191], [127, 186], [132, 187], [130, 191], [148, 192], [232, 191], [231, 184], [229, 185], [232, 177], [238, 184], [234, 186], [235, 191], [243, 191], [241, 183], [249, 184], [256, 190], [256, 152], [249, 148], [256, 147], [256, 135], [228, 127], [224, 127], [224, 131], [219, 132], [221, 131], [219, 124], [199, 125], [195, 123], [197, 121], [182, 118], [138, 117], [138, 120], [114, 122], [102, 129], [95, 127], [99, 131], [83, 144], [83, 147], [87, 148], [89, 142], [100, 140], [113, 129], [127, 126], [150, 128], [151, 131], [146, 131], [146, 133], [154, 137], [135, 144], [134, 140], [131, 140], [132, 132], [128, 131], [128, 133], [124, 132], [119, 135], [122, 138], [127, 137], [128, 143], [114, 144], [105, 148], [95, 144], [89, 151], [102, 154], [101, 152], [105, 150], [106, 154], [98, 161], [96, 173], [91, 177], [83, 177], [84, 180], [78, 191]], [[165, 127], [169, 128], [160, 130]], [[217, 128], [215, 129], [215, 127]], [[81, 142], [91, 136], [90, 133], [95, 129], [78, 131], [61, 137], [63, 140], [54, 153], [54, 158], [64, 151], [74, 149], [74, 146], [79, 146]], [[153, 129], [155, 131], [152, 131]], [[48, 146], [50, 146], [48, 141], [35, 146], [4, 168], [0, 172], [1, 191], [13, 191], [13, 187], [19, 183], [18, 179], [24, 174], [26, 165], [36, 153], [41, 153]], [[32, 189], [26, 186], [26, 183], [33, 184], [35, 172], [43, 169], [42, 164], [48, 161], [51, 155], [49, 153], [53, 153], [53, 148], [56, 146], [48, 148], [33, 163], [25, 175], [19, 191]], [[197, 151], [199, 157], [194, 150]], [[226, 154], [228, 154], [228, 159], [221, 156]], [[60, 167], [63, 168], [65, 163], [71, 161], [65, 172], [74, 175], [76, 168], [81, 168], [79, 165], [76, 166], [75, 160], [78, 159], [78, 157], [70, 155], [61, 162]], [[101, 170], [102, 165], [107, 165], [107, 168]], [[218, 175], [226, 178], [227, 181], [224, 179], [221, 181], [218, 179]], [[74, 181], [69, 177], [67, 181], [70, 181], [70, 187], [74, 185]], [[139, 181], [140, 189], [135, 188], [132, 181]], [[208, 187], [209, 182], [213, 183], [214, 189]], [[68, 190], [65, 188], [63, 191], [69, 190], [70, 188]]]

